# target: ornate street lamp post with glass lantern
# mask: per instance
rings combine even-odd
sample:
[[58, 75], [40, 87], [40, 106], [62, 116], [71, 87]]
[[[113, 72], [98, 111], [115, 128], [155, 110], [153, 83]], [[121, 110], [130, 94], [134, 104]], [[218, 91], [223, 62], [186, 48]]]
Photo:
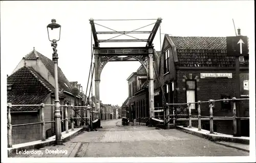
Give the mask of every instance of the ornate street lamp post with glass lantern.
[[[49, 31], [50, 29], [50, 31]], [[54, 119], [55, 119], [55, 144], [62, 145], [61, 139], [61, 122], [60, 122], [60, 104], [59, 104], [59, 88], [58, 88], [58, 54], [57, 54], [57, 41], [60, 39], [61, 25], [52, 19], [52, 23], [47, 25], [48, 39], [51, 41], [53, 47], [52, 60], [54, 62], [54, 78], [55, 78], [55, 106], [54, 106]]]

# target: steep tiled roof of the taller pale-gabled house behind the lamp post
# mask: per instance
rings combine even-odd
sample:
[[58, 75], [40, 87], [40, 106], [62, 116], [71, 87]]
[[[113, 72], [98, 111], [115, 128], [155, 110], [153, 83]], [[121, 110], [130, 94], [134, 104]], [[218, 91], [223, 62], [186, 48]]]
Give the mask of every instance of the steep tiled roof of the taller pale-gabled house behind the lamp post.
[[[51, 59], [47, 58], [46, 56], [42, 55], [35, 49], [31, 51], [27, 56], [25, 56], [25, 60], [36, 60], [36, 57], [38, 56], [39, 60], [42, 61], [42, 63], [46, 66], [46, 68], [49, 70], [51, 75], [54, 77], [54, 63]], [[68, 91], [71, 93], [72, 87], [70, 85], [69, 80], [66, 78], [66, 76], [63, 74], [61, 69], [58, 67], [58, 83], [60, 90], [64, 89], [65, 91]], [[67, 86], [68, 88], [67, 88]]]

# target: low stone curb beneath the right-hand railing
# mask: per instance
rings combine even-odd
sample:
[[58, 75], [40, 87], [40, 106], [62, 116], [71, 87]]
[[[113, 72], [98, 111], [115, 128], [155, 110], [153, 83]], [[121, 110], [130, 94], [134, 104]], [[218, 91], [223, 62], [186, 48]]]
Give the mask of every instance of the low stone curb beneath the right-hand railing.
[[204, 134], [204, 133], [200, 133], [200, 132], [196, 132], [196, 131], [191, 131], [191, 130], [187, 130], [185, 128], [182, 128], [180, 126], [176, 126], [176, 129], [186, 132], [186, 133], [190, 133], [193, 135], [197, 135], [198, 137], [204, 138], [204, 139], [208, 139], [212, 142], [216, 142], [216, 141], [224, 141], [224, 142], [233, 142], [233, 143], [240, 143], [240, 144], [250, 144], [250, 140], [243, 140], [240, 138], [228, 138], [228, 137], [221, 137], [220, 136], [214, 136], [214, 135], [209, 135], [209, 134]]

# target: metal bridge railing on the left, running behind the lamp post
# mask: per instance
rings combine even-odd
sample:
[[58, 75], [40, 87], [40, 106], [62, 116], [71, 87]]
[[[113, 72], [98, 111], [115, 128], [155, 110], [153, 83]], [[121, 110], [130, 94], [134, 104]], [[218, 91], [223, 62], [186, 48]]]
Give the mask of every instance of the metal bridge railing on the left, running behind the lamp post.
[[[40, 120], [39, 122], [34, 122], [34, 123], [23, 123], [23, 124], [14, 124], [12, 125], [12, 117], [11, 117], [11, 108], [15, 106], [34, 106], [38, 107], [40, 106], [39, 110], [39, 117]], [[47, 123], [55, 123], [55, 121], [45, 121], [45, 106], [55, 106], [55, 104], [14, 104], [12, 105], [11, 103], [7, 103], [7, 145], [8, 148], [12, 147], [12, 127], [17, 127], [17, 126], [28, 126], [28, 125], [37, 125], [41, 124], [41, 141], [46, 141], [46, 124]], [[69, 120], [71, 123], [71, 130], [74, 130], [74, 120], [76, 119], [89, 119], [90, 123], [90, 106], [73, 106], [73, 105], [60, 105], [60, 111], [62, 112], [61, 115], [61, 128], [65, 127], [64, 130], [66, 130], [66, 133], [69, 133]], [[81, 112], [81, 111], [87, 111], [87, 114], [80, 115], [76, 114], [77, 117], [74, 117], [74, 112]], [[14, 112], [15, 113], [15, 112]], [[63, 114], [64, 113], [64, 114]], [[68, 113], [70, 115], [68, 116]], [[83, 112], [86, 113], [86, 112]], [[87, 115], [88, 117], [85, 117]]]

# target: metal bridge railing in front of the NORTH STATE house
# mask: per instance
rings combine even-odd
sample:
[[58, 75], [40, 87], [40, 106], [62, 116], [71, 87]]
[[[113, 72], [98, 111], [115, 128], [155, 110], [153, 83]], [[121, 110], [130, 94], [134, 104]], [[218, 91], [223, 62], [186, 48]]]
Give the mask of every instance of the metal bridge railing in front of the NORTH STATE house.
[[[233, 120], [233, 132], [234, 135], [237, 134], [237, 119], [249, 119], [249, 117], [237, 117], [237, 104], [239, 101], [242, 100], [249, 100], [249, 98], [241, 98], [237, 99], [236, 97], [233, 97], [232, 99], [219, 99], [219, 100], [208, 100], [208, 101], [198, 101], [198, 102], [188, 102], [188, 103], [166, 103], [167, 105], [188, 105], [188, 128], [192, 127], [192, 117], [198, 118], [198, 130], [201, 130], [201, 120], [202, 119], [209, 119], [210, 121], [210, 133], [214, 133], [214, 118], [218, 119], [232, 119]], [[214, 102], [220, 102], [220, 101], [232, 101], [232, 117], [217, 117], [213, 116], [213, 103]], [[198, 115], [191, 115], [191, 104], [197, 104], [198, 108]], [[209, 103], [209, 116], [201, 116], [201, 105], [202, 103]], [[177, 116], [177, 115], [167, 115], [169, 117]], [[183, 115], [184, 116], [184, 115]]]

